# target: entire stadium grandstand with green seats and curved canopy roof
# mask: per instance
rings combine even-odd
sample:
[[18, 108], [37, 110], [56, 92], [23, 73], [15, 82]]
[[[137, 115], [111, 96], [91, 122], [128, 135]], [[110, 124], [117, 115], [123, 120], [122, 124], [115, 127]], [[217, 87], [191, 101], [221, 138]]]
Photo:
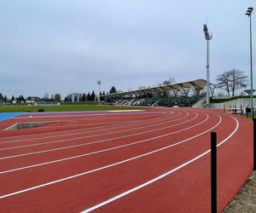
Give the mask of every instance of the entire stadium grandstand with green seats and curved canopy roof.
[[101, 95], [102, 104], [151, 107], [194, 107], [206, 101], [204, 79]]

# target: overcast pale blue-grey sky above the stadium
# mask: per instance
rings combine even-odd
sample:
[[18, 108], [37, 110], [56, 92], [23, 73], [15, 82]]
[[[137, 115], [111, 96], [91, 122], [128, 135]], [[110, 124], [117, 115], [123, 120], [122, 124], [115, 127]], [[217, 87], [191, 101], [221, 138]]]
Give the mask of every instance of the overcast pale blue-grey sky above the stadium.
[[211, 82], [232, 68], [249, 75], [249, 6], [253, 1], [0, 0], [0, 92], [64, 96], [97, 92], [97, 80], [109, 91], [206, 78], [206, 19]]

